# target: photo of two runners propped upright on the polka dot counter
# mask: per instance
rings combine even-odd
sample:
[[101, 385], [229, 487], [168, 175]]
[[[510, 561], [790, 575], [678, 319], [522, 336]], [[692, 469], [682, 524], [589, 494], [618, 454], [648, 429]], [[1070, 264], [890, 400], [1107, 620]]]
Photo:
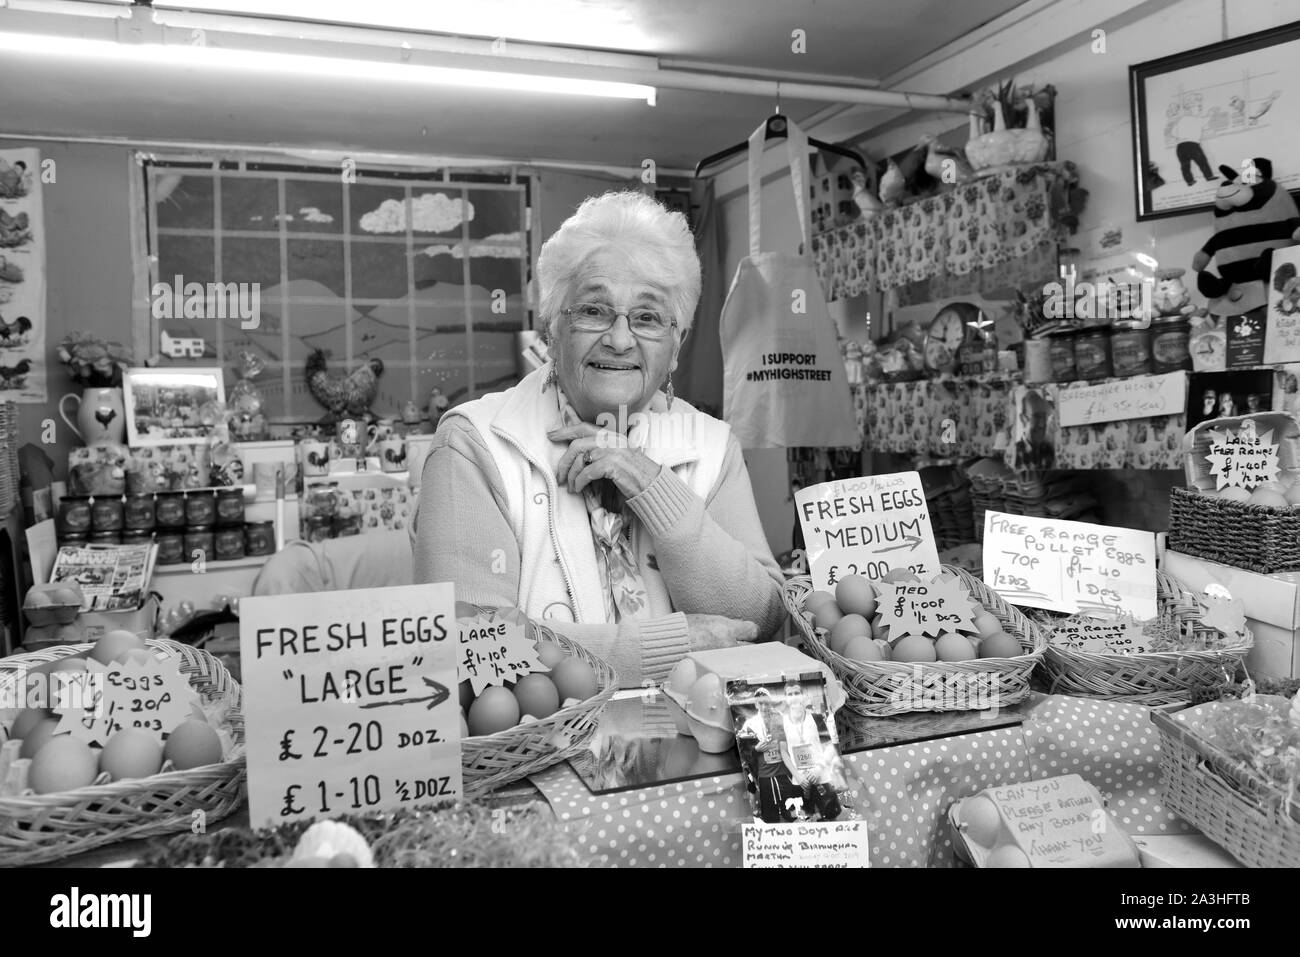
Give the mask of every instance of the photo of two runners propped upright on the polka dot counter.
[[732, 680], [727, 702], [757, 819], [775, 824], [857, 817], [820, 672]]

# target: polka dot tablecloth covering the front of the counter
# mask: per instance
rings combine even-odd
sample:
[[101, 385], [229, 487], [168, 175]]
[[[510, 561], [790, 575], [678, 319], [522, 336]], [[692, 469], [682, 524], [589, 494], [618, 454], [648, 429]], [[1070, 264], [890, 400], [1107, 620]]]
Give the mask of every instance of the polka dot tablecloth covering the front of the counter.
[[[1130, 835], [1192, 828], [1160, 804], [1160, 735], [1135, 705], [1039, 696], [1023, 726], [845, 757], [874, 867], [954, 861], [948, 807], [984, 788], [1079, 774]], [[532, 778], [584, 852], [614, 867], [738, 867], [751, 820], [738, 774], [593, 794], [567, 765]]]

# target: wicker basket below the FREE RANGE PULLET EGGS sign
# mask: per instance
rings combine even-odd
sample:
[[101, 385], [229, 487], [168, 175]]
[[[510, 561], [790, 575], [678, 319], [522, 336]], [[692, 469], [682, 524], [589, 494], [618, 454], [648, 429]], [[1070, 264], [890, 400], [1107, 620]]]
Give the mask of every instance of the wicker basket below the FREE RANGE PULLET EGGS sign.
[[[1201, 622], [1196, 596], [1164, 572], [1156, 572], [1156, 601], [1160, 616], [1173, 619], [1187, 641], [1222, 637]], [[1230, 648], [1145, 654], [1095, 654], [1049, 644], [1043, 674], [1053, 694], [1158, 707], [1187, 702], [1196, 688], [1230, 684], [1252, 644], [1247, 637]]]

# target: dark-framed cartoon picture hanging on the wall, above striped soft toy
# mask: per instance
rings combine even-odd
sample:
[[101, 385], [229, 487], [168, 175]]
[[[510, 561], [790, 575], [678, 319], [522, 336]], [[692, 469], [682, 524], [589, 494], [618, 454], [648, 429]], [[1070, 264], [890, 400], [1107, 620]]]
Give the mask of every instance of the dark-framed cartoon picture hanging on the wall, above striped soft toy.
[[1139, 220], [1205, 212], [1262, 156], [1300, 190], [1300, 22], [1128, 68]]

